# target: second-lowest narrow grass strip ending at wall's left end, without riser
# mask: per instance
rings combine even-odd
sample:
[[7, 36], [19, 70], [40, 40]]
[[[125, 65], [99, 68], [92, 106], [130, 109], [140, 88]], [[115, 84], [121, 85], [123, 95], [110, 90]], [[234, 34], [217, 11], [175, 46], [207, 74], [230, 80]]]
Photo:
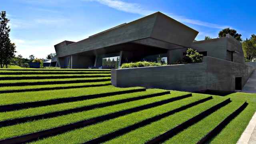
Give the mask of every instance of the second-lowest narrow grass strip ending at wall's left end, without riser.
[[0, 80], [0, 84], [15, 84], [25, 82], [59, 82], [59, 81], [72, 81], [72, 80], [105, 80], [111, 77], [99, 77], [99, 78], [61, 78], [61, 79], [39, 79], [39, 80]]

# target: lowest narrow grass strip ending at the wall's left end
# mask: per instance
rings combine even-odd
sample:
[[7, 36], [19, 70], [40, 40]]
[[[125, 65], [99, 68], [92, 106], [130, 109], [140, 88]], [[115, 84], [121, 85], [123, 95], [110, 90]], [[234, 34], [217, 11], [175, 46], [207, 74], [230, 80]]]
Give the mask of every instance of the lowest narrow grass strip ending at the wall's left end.
[[97, 84], [111, 84], [110, 81], [106, 82], [84, 82], [75, 84], [46, 84], [46, 85], [36, 85], [36, 86], [3, 86], [0, 87], [0, 91], [4, 90], [27, 90], [27, 89], [38, 89], [38, 88], [65, 88], [68, 86], [93, 86]]

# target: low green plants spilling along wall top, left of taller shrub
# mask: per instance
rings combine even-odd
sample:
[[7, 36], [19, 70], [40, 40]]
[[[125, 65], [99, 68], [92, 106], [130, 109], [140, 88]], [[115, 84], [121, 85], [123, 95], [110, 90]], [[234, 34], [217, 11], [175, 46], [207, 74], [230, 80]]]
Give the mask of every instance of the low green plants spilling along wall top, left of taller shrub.
[[[163, 64], [166, 65], [166, 64]], [[139, 67], [148, 67], [148, 66], [162, 66], [160, 63], [156, 62], [130, 62], [130, 63], [124, 63], [120, 68], [139, 68]]]

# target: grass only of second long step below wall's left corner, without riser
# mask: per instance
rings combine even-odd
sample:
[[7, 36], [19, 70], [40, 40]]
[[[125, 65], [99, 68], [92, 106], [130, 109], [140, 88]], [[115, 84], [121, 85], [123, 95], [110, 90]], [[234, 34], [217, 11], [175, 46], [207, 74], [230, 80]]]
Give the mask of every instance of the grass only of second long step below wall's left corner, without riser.
[[120, 94], [120, 95], [114, 95], [114, 96], [107, 96], [102, 98], [95, 98], [90, 100], [82, 100], [78, 102], [67, 102], [62, 104], [54, 104], [50, 106], [41, 106], [36, 108], [27, 108], [22, 110], [16, 110], [11, 112], [0, 112], [0, 121], [4, 120], [10, 120], [14, 118], [23, 118], [27, 116], [35, 116], [39, 114], [46, 114], [50, 112], [57, 112], [61, 110], [68, 110], [72, 108], [78, 108], [82, 106], [90, 106], [94, 104], [102, 104], [105, 102], [113, 102], [116, 100], [123, 100], [127, 98], [134, 98], [134, 97], [140, 97], [145, 96], [148, 94], [156, 94], [159, 92], [166, 92], [166, 90], [160, 90], [160, 89], [148, 89], [145, 92], [134, 92], [129, 94]]

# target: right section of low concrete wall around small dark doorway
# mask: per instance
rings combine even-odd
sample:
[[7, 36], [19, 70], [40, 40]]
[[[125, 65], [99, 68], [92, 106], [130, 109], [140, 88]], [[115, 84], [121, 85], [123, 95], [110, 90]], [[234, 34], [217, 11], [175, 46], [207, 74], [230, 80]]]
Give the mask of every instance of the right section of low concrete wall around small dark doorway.
[[207, 63], [207, 89], [234, 91], [235, 78], [242, 77], [242, 87], [247, 82], [254, 68], [245, 64], [205, 56]]

